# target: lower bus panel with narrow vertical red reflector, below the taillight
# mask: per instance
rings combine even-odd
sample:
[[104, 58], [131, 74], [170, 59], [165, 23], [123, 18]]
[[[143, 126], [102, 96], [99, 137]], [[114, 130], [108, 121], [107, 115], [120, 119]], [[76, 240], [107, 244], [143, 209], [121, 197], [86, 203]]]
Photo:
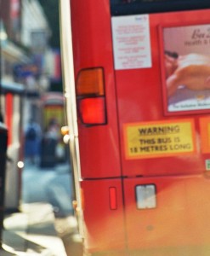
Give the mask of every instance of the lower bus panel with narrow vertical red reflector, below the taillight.
[[[110, 189], [116, 189], [116, 207], [111, 209]], [[82, 182], [85, 232], [91, 251], [124, 250], [125, 230], [120, 179]]]

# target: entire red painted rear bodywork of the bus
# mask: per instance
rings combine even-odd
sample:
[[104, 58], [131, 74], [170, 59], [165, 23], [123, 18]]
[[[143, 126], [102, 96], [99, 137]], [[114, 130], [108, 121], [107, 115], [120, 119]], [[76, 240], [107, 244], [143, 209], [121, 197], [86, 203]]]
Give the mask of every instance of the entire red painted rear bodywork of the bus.
[[[200, 126], [207, 111], [165, 113], [160, 26], [210, 24], [210, 11], [149, 15], [152, 65], [127, 70], [114, 68], [109, 0], [71, 1], [71, 16], [76, 78], [83, 68], [103, 67], [105, 73], [108, 124], [87, 127], [78, 121], [89, 252], [128, 249], [126, 255], [132, 255], [148, 248], [209, 244], [210, 179], [205, 176], [209, 154], [201, 152]], [[193, 123], [194, 152], [126, 157], [125, 125], [174, 120]], [[135, 188], [145, 184], [156, 187], [156, 207], [139, 210]], [[116, 210], [110, 209], [110, 187], [117, 191]]]

